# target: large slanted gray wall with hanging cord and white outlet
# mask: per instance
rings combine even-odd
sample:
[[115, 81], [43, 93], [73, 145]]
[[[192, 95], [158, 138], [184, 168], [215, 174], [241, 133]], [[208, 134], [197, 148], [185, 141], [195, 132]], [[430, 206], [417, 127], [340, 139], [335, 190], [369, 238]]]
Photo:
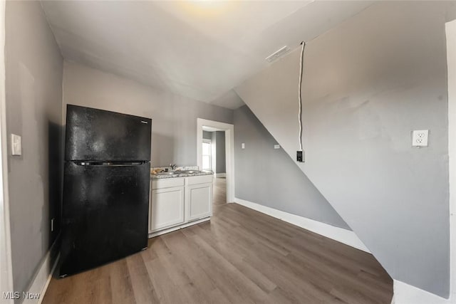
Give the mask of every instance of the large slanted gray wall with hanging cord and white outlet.
[[[380, 2], [308, 43], [306, 162], [298, 164], [393, 278], [444, 297], [452, 4]], [[298, 74], [296, 50], [236, 88], [291, 159], [299, 148]], [[410, 132], [422, 129], [430, 147], [411, 147]]]

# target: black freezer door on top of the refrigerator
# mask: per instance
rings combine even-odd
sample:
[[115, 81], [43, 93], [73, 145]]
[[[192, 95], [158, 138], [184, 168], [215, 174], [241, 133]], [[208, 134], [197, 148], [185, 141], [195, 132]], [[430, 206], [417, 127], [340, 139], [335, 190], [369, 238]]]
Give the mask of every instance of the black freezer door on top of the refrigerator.
[[150, 160], [150, 118], [68, 105], [65, 160]]

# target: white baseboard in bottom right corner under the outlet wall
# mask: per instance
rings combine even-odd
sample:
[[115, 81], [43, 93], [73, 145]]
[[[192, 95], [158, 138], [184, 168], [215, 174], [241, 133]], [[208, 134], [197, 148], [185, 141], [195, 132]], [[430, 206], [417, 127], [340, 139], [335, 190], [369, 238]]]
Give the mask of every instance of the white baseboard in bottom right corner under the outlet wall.
[[391, 304], [454, 304], [456, 299], [445, 299], [423, 289], [394, 280], [394, 297]]

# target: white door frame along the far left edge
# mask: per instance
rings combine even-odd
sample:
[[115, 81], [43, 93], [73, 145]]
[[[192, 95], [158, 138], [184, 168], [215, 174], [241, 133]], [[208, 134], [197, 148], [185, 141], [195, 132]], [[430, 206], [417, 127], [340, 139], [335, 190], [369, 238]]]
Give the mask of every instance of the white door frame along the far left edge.
[[3, 298], [4, 291], [14, 291], [11, 266], [8, 152], [6, 145], [5, 4], [6, 1], [0, 1], [0, 303], [13, 303], [12, 299], [7, 300]]

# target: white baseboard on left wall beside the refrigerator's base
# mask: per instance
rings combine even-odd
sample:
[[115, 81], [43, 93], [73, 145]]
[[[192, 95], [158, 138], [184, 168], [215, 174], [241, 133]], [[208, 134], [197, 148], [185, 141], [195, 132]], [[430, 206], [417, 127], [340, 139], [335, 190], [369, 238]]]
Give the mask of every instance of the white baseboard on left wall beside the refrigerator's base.
[[[60, 254], [57, 254], [56, 252], [58, 249], [56, 245], [56, 243], [58, 243], [57, 241], [58, 238], [56, 241], [54, 241], [48, 253], [46, 253], [46, 256], [44, 257], [40, 268], [38, 268], [35, 278], [33, 278], [30, 288], [28, 288], [29, 297], [24, 298], [24, 301], [22, 303], [41, 304], [41, 301], [44, 298], [44, 294], [48, 289], [48, 285], [51, 282], [52, 274], [56, 269], [58, 259], [60, 258]], [[53, 258], [54, 261], [52, 261]], [[36, 295], [39, 296], [36, 297]]]

